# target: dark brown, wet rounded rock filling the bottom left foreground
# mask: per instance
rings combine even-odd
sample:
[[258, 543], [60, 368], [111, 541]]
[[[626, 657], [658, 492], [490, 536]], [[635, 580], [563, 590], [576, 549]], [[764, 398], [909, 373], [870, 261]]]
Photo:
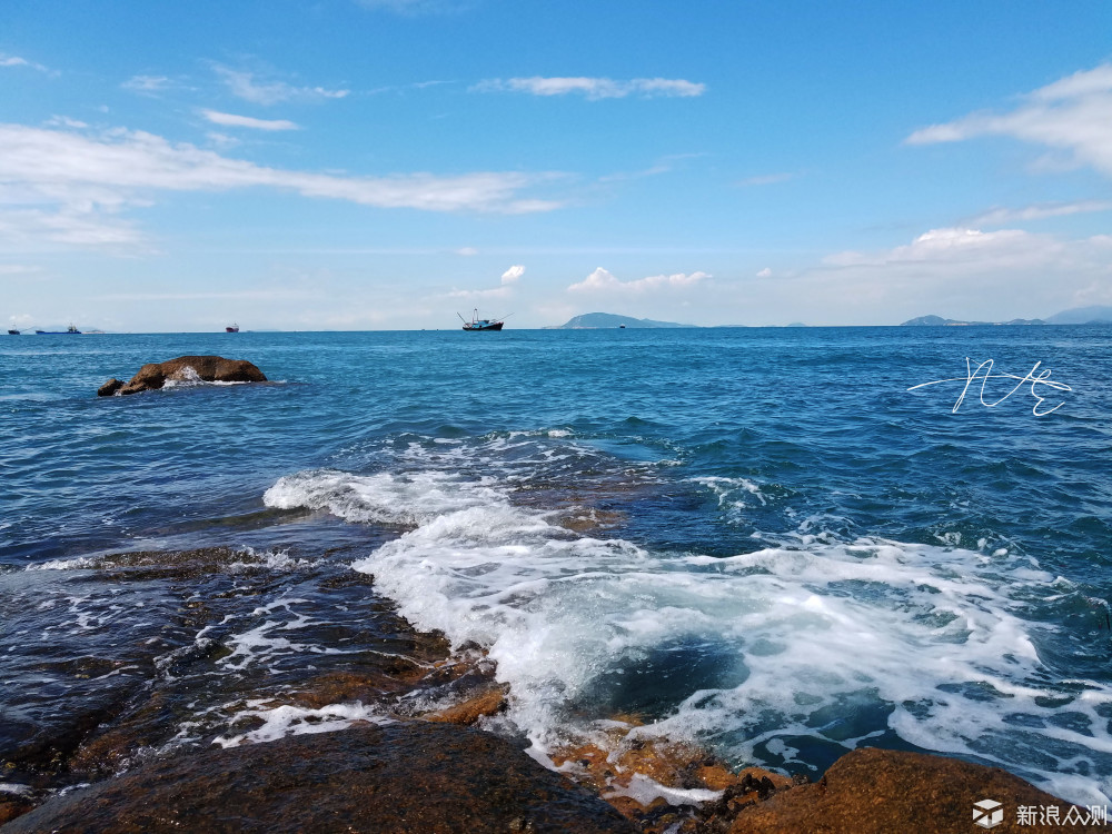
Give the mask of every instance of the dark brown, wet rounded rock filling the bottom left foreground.
[[614, 808], [509, 742], [453, 724], [360, 726], [152, 759], [3, 834], [625, 832]]

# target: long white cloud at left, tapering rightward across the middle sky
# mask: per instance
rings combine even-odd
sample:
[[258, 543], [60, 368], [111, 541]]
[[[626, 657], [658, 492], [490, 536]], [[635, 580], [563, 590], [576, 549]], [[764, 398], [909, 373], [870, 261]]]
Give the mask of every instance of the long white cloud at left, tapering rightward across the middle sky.
[[[0, 215], [0, 232], [27, 238], [38, 230], [40, 237], [70, 244], [135, 242], [135, 228], [109, 215], [143, 205], [145, 195], [157, 190], [272, 188], [378, 208], [522, 214], [558, 207], [518, 196], [546, 179], [552, 175], [345, 177], [267, 168], [141, 131], [115, 129], [92, 137], [0, 125], [0, 203], [36, 206]], [[42, 205], [52, 210], [41, 210]]]

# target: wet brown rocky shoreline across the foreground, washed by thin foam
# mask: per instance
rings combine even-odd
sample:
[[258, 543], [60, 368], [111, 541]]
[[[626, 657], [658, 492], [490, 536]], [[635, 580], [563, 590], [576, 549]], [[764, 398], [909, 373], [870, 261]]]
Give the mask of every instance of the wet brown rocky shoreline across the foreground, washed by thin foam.
[[[631, 741], [639, 722], [628, 715], [613, 716], [605, 737], [550, 752], [555, 771], [542, 767], [515, 738], [483, 729], [509, 694], [481, 648], [451, 652], [416, 632], [341, 556], [205, 548], [82, 565], [73, 582], [159, 603], [145, 603], [157, 637], [28, 666], [73, 686], [49, 719], [0, 732], [3, 834], [930, 833], [970, 831], [984, 800], [1001, 804], [996, 831], [1103, 827], [999, 768], [857, 749], [816, 783], [735, 773], [691, 745]], [[242, 642], [217, 626], [244, 599], [258, 614], [295, 593], [308, 648], [239, 659]], [[315, 613], [326, 610], [324, 625]], [[1021, 807], [1034, 824], [1017, 824]], [[1060, 824], [1037, 824], [1034, 810], [1051, 807]]]

